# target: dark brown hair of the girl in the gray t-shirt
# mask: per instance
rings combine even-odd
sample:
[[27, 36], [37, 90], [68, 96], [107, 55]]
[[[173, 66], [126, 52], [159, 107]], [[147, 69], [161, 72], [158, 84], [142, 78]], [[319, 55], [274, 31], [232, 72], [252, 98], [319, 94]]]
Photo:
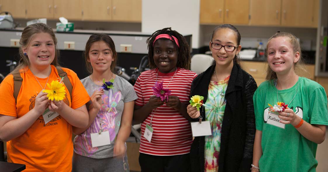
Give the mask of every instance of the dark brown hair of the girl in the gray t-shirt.
[[92, 74], [92, 72], [93, 72], [91, 63], [88, 62], [88, 60], [90, 60], [89, 51], [90, 51], [90, 48], [91, 48], [92, 44], [95, 43], [95, 42], [98, 42], [98, 41], [104, 41], [107, 44], [107, 46], [111, 49], [112, 58], [113, 58], [113, 61], [112, 61], [112, 64], [111, 64], [111, 71], [113, 73], [115, 73], [115, 67], [116, 67], [116, 62], [117, 62], [117, 53], [116, 53], [116, 50], [115, 50], [115, 45], [114, 45], [113, 39], [105, 33], [93, 33], [90, 36], [89, 40], [87, 41], [87, 44], [85, 45], [84, 60], [85, 60], [85, 64], [86, 64], [86, 67], [87, 67], [87, 71], [90, 74]]

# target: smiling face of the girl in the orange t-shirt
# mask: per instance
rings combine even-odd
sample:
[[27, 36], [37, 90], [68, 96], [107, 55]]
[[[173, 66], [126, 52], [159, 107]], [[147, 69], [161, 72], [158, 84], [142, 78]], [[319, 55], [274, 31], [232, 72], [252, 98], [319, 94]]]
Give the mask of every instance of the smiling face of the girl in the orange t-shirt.
[[55, 44], [49, 33], [36, 33], [23, 52], [27, 54], [32, 70], [43, 69], [49, 67], [55, 57]]

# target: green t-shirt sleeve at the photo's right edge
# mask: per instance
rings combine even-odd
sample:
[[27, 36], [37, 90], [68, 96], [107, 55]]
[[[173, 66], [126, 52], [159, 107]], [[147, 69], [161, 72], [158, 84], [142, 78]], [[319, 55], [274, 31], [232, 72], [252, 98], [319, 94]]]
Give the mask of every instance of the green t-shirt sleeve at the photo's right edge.
[[310, 124], [328, 125], [327, 95], [324, 88], [315, 89], [309, 100]]

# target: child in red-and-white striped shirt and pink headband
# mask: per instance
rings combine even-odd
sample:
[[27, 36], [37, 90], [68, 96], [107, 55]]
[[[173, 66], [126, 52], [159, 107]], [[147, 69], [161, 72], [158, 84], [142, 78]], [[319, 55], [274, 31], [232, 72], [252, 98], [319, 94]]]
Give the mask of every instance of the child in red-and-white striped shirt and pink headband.
[[[190, 171], [193, 140], [186, 107], [196, 73], [186, 69], [191, 59], [189, 45], [171, 28], [155, 31], [147, 43], [151, 69], [142, 72], [134, 85], [138, 98], [133, 122], [142, 123], [141, 171]], [[168, 99], [154, 96], [156, 82], [163, 82], [163, 88], [171, 91]]]

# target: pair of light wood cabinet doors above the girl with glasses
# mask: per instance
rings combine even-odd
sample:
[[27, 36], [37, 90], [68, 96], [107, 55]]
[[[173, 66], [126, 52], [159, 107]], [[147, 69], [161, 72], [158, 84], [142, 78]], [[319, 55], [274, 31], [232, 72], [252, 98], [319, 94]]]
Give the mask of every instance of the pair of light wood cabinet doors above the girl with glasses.
[[248, 24], [248, 14], [249, 0], [200, 1], [201, 24]]

